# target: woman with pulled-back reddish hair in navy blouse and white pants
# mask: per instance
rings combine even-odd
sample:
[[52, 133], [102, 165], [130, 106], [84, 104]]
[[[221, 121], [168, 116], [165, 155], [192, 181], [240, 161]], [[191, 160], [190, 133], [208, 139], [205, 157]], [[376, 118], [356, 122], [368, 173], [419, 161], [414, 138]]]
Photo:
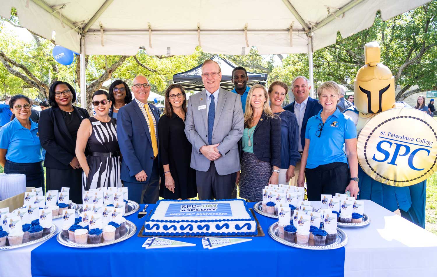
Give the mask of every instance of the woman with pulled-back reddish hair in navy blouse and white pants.
[[[299, 126], [294, 113], [282, 109], [282, 103], [288, 92], [284, 82], [274, 81], [269, 87], [270, 107], [281, 119], [281, 166], [278, 182], [288, 184], [295, 177], [296, 162], [300, 160], [298, 152]], [[296, 176], [297, 178], [297, 176]], [[294, 184], [294, 180], [291, 182]]]

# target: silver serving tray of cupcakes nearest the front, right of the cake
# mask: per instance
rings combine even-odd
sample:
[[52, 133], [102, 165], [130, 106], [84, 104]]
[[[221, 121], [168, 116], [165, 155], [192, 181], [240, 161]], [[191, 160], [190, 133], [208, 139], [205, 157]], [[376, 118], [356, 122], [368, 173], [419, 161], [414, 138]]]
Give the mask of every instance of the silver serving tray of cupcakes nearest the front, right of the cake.
[[343, 247], [347, 244], [348, 238], [346, 233], [341, 230], [340, 228], [337, 228], [337, 237], [336, 241], [329, 245], [323, 245], [323, 246], [316, 246], [314, 245], [314, 240], [309, 240], [308, 243], [300, 244], [300, 243], [294, 243], [289, 242], [285, 240], [284, 238], [281, 238], [283, 234], [279, 233], [279, 222], [275, 222], [269, 227], [269, 235], [277, 242], [281, 242], [284, 245], [288, 245], [291, 247], [296, 248], [302, 248], [302, 249], [312, 249], [312, 250], [329, 250], [329, 249], [337, 249], [340, 247]]

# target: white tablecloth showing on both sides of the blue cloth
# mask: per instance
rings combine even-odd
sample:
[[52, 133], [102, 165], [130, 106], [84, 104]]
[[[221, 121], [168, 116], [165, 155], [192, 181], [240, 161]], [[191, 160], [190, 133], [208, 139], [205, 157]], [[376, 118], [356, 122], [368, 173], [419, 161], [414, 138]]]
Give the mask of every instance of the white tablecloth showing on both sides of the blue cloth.
[[[319, 208], [320, 201], [314, 207]], [[364, 200], [364, 212], [370, 217], [369, 226], [343, 228], [349, 238], [345, 277], [437, 276], [436, 235], [369, 200]], [[53, 223], [60, 231], [62, 219]], [[31, 251], [39, 245], [0, 251], [0, 275], [30, 277]]]

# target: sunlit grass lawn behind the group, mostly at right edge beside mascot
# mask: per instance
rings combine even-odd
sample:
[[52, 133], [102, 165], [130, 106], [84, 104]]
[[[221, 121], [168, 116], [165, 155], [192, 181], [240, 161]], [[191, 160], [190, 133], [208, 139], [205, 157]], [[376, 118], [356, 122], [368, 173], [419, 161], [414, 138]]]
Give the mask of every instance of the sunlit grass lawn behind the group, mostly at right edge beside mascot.
[[[1, 166], [0, 173], [3, 173]], [[437, 172], [427, 181], [426, 220], [426, 229], [437, 235]]]

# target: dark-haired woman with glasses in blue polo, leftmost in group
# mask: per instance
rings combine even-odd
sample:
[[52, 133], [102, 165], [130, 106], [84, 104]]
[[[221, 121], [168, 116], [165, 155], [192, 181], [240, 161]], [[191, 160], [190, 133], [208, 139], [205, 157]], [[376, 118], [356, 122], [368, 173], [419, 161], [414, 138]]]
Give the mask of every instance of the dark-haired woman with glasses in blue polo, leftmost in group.
[[0, 129], [0, 165], [4, 173], [26, 175], [26, 186], [44, 185], [42, 147], [38, 123], [29, 119], [31, 105], [28, 97], [15, 95], [9, 101], [12, 120]]

